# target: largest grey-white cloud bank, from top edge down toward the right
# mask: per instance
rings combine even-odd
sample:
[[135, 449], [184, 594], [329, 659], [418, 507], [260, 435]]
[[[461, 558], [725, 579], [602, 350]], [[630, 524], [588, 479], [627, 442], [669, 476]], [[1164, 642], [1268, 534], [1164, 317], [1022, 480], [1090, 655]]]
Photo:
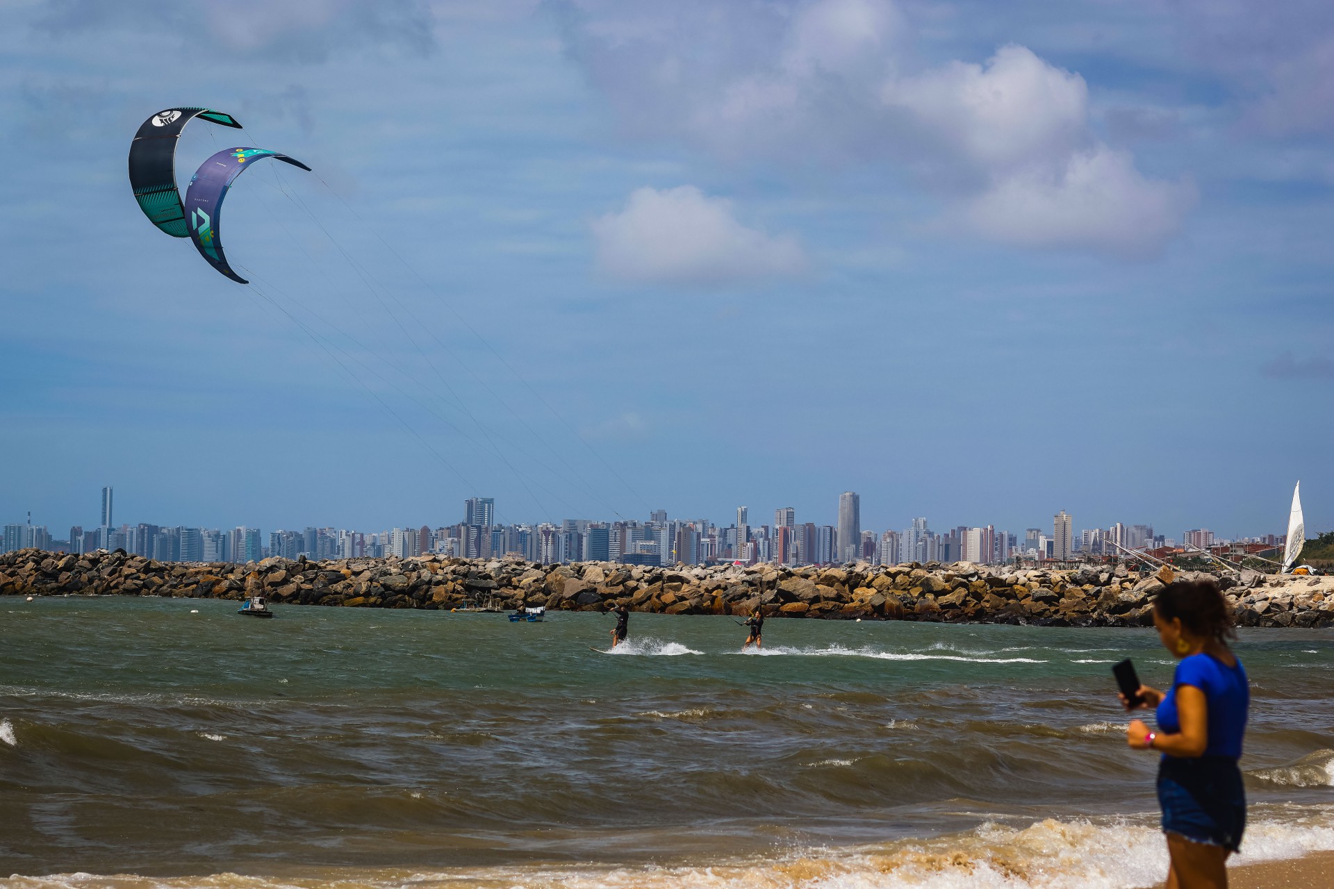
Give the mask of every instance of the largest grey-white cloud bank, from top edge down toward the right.
[[912, 69], [888, 0], [650, 7], [583, 0], [567, 21], [574, 57], [640, 136], [912, 171], [947, 220], [1023, 248], [1151, 256], [1195, 203], [1189, 181], [1103, 144], [1085, 79], [1025, 47]]

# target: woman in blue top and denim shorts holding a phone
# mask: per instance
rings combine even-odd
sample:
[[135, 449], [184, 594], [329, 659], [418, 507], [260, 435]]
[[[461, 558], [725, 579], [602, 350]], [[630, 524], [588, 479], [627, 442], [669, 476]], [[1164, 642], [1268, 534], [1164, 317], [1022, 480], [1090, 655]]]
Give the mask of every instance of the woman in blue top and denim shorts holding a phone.
[[[1227, 856], [1246, 828], [1242, 754], [1250, 689], [1227, 640], [1233, 616], [1213, 581], [1169, 584], [1154, 598], [1158, 638], [1181, 658], [1167, 692], [1143, 685], [1158, 730], [1133, 720], [1130, 746], [1158, 750], [1158, 802], [1171, 866], [1167, 889], [1226, 888]], [[1127, 704], [1125, 694], [1122, 704]]]

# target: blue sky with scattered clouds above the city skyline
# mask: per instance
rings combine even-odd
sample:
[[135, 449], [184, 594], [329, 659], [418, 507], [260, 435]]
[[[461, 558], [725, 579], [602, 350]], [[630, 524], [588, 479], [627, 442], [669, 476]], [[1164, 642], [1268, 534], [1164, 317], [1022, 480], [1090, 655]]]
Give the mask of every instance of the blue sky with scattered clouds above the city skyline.
[[1334, 526], [1327, 3], [4, 0], [0, 113], [5, 522]]

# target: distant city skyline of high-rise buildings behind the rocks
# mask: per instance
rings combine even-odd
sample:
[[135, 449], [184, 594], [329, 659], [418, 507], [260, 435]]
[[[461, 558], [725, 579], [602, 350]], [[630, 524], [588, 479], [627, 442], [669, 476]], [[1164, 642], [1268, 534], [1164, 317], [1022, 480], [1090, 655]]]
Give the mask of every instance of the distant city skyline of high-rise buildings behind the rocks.
[[[112, 518], [113, 486], [101, 489], [101, 520]], [[843, 564], [868, 561], [974, 561], [998, 564], [1014, 556], [1055, 561], [1075, 557], [1118, 556], [1127, 550], [1177, 548], [1178, 541], [1155, 533], [1150, 525], [1114, 522], [1109, 528], [1085, 528], [1075, 533], [1074, 517], [1066, 510], [1053, 516], [1051, 533], [1026, 528], [1021, 536], [994, 524], [958, 525], [947, 532], [930, 528], [924, 516], [903, 529], [875, 532], [859, 525], [860, 496], [846, 490], [838, 497], [839, 524], [798, 522], [795, 509], [780, 506], [772, 525], [750, 525], [750, 508], [738, 506], [728, 526], [708, 518], [668, 518], [667, 510], [652, 510], [647, 520], [564, 518], [560, 522], [496, 522], [494, 497], [470, 497], [463, 502], [458, 522], [420, 526], [392, 526], [354, 530], [331, 525], [307, 525], [303, 530], [257, 526], [195, 528], [153, 524], [103, 524], [69, 528], [67, 538], [49, 526], [27, 522], [5, 524], [0, 552], [28, 546], [69, 552], [127, 549], [136, 554], [169, 561], [257, 561], [269, 556], [295, 558], [362, 557], [422, 553], [491, 557], [520, 556], [531, 561], [627, 561], [660, 564], [670, 558], [687, 564], [738, 561], [742, 564]], [[492, 524], [495, 522], [495, 524]], [[1181, 546], [1203, 549], [1217, 542], [1273, 546], [1281, 534], [1251, 534], [1229, 538], [1210, 529], [1182, 532]]]

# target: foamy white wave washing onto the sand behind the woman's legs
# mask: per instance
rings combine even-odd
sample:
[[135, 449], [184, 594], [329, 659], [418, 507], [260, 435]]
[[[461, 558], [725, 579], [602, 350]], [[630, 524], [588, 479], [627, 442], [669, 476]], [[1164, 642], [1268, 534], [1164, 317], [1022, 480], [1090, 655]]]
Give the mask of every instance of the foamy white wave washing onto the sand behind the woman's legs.
[[[1246, 832], [1237, 865], [1334, 849], [1334, 817], [1258, 820]], [[906, 840], [844, 850], [794, 849], [710, 864], [528, 865], [339, 869], [283, 878], [220, 873], [201, 877], [115, 877], [65, 873], [0, 878], [8, 889], [1133, 889], [1167, 872], [1167, 848], [1149, 816], [1105, 821], [1047, 818], [1029, 826], [994, 822], [934, 840]]]

